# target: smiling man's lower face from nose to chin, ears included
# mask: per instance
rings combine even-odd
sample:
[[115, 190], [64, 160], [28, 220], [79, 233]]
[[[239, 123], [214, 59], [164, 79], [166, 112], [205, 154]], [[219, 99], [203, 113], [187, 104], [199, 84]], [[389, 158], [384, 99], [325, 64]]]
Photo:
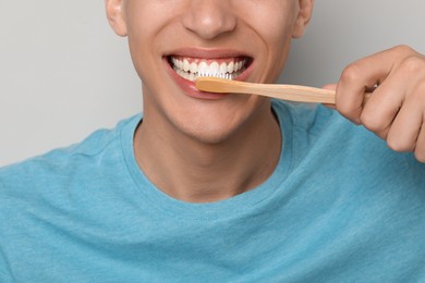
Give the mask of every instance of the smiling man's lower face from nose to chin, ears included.
[[[144, 123], [218, 143], [270, 113], [268, 99], [198, 91], [199, 73], [272, 83], [312, 0], [106, 0], [116, 32], [129, 37], [143, 81]], [[121, 17], [121, 19], [120, 19]], [[171, 131], [171, 132], [170, 132]]]

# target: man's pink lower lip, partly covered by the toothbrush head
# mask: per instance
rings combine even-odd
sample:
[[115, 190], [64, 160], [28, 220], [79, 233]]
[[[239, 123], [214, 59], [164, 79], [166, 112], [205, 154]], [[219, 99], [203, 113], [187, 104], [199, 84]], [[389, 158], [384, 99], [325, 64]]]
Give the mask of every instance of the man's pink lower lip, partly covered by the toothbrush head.
[[[215, 100], [215, 99], [223, 99], [229, 96], [229, 94], [216, 94], [216, 93], [206, 93], [201, 91], [196, 88], [195, 82], [185, 79], [178, 75], [170, 63], [168, 62], [167, 58], [163, 59], [165, 63], [167, 64], [168, 72], [170, 73], [171, 77], [174, 79], [174, 82], [180, 86], [180, 88], [183, 90], [185, 95], [193, 98], [198, 99], [208, 99], [208, 100]], [[235, 81], [244, 81], [247, 78], [248, 73], [251, 71], [251, 65], [240, 75], [236, 77]]]

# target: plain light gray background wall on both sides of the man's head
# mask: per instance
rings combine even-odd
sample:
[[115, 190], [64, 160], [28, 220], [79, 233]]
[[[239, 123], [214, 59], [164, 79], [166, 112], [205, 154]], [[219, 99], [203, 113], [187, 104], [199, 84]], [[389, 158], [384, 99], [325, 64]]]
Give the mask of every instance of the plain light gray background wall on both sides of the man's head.
[[[316, 0], [281, 83], [321, 86], [399, 44], [425, 52], [423, 0]], [[104, 1], [0, 1], [0, 165], [83, 139], [142, 109], [141, 83]]]

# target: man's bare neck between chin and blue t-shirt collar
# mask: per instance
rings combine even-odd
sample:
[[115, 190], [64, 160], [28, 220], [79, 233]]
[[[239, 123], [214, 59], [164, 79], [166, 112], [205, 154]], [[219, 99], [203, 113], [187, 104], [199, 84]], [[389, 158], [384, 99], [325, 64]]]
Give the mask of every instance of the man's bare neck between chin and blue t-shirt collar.
[[279, 161], [281, 134], [271, 110], [253, 120], [226, 140], [203, 143], [158, 131], [144, 119], [135, 134], [136, 160], [145, 175], [173, 198], [227, 199], [265, 182]]

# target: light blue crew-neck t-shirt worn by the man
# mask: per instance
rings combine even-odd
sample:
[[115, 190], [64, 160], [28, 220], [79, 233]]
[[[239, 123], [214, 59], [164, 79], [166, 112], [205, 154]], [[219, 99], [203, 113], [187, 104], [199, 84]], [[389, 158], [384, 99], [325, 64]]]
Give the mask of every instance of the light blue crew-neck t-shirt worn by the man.
[[147, 180], [141, 115], [0, 170], [0, 282], [425, 282], [425, 164], [321, 106], [272, 107], [278, 167], [223, 201]]

